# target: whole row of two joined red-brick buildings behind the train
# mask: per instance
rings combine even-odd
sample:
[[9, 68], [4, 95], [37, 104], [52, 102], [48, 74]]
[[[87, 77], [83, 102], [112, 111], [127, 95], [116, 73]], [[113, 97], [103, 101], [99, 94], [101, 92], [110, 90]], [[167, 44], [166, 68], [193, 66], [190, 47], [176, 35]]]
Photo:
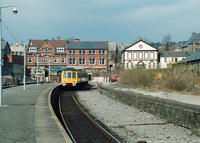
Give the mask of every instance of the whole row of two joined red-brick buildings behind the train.
[[30, 40], [27, 68], [32, 78], [57, 80], [60, 69], [71, 67], [87, 72], [108, 69], [108, 41]]

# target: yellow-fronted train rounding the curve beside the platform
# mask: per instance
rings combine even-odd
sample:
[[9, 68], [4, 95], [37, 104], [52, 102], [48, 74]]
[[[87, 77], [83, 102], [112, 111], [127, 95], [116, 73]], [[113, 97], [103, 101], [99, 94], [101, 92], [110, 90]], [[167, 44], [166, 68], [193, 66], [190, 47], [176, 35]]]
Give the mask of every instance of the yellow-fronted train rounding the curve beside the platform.
[[73, 68], [61, 71], [61, 85], [63, 87], [87, 84], [88, 81], [89, 75], [87, 72], [79, 71]]

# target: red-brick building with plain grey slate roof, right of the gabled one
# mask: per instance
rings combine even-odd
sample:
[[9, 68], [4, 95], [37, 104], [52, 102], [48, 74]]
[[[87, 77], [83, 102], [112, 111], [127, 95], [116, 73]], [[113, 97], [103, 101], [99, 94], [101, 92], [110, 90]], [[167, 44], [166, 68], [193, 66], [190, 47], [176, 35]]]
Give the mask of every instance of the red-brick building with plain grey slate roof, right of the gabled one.
[[108, 70], [108, 41], [67, 41], [67, 66], [86, 72]]

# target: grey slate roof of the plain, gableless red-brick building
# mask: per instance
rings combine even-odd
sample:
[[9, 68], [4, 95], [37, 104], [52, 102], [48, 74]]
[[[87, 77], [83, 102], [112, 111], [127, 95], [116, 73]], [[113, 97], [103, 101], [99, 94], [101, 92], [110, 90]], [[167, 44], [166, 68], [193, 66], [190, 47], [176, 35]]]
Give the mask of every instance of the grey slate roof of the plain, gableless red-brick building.
[[68, 50], [108, 50], [108, 41], [69, 41]]

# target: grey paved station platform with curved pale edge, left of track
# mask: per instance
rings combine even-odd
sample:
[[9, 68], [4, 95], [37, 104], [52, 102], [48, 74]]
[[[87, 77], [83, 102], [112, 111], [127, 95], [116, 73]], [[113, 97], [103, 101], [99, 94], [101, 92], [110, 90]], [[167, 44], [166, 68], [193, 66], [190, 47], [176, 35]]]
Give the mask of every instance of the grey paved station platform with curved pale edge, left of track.
[[71, 142], [49, 106], [49, 93], [57, 85], [26, 85], [25, 91], [23, 86], [3, 89], [1, 143]]

